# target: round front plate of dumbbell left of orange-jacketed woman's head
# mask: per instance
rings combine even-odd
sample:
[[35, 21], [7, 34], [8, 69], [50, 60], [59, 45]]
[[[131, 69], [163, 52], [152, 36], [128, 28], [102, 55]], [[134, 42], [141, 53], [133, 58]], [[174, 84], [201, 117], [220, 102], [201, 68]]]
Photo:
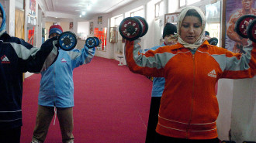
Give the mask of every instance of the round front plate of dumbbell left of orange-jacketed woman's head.
[[124, 39], [130, 41], [138, 39], [141, 36], [142, 31], [143, 27], [140, 20], [133, 17], [123, 19], [119, 25], [120, 35], [123, 36]]

